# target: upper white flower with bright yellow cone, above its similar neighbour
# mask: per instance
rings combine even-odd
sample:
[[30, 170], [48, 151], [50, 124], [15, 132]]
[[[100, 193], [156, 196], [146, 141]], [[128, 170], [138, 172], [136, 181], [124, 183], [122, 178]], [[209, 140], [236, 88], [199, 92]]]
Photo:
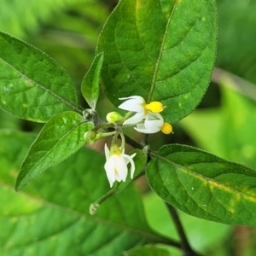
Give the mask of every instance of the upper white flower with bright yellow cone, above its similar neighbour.
[[161, 102], [150, 102], [147, 104], [142, 96], [130, 96], [119, 98], [119, 100], [126, 100], [119, 105], [120, 109], [136, 112], [130, 119], [125, 120], [124, 125], [137, 124], [145, 119], [148, 113], [160, 113], [164, 110]]

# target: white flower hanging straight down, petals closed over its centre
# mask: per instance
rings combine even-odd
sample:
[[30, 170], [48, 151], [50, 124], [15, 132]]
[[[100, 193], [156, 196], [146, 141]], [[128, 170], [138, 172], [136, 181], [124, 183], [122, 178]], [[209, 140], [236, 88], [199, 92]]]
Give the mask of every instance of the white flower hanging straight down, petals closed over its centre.
[[113, 146], [111, 148], [111, 152], [109, 152], [108, 146], [105, 144], [105, 155], [107, 161], [104, 168], [111, 188], [115, 181], [125, 182], [128, 173], [127, 165], [129, 162], [131, 163], [131, 178], [133, 177], [135, 164], [132, 158], [136, 155], [136, 153], [131, 155], [125, 154], [125, 150], [123, 150], [121, 153], [117, 145]]

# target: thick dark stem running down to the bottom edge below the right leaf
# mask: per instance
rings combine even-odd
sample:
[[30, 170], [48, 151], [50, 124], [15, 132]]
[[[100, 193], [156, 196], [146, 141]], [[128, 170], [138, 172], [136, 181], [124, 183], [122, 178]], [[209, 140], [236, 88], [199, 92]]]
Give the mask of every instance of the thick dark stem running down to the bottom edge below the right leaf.
[[175, 227], [176, 227], [176, 230], [177, 230], [177, 233], [180, 237], [180, 240], [181, 240], [181, 249], [183, 250], [183, 256], [199, 256], [198, 253], [195, 253], [193, 251], [193, 249], [190, 247], [189, 245], [189, 241], [188, 241], [188, 238], [185, 234], [185, 231], [183, 229], [183, 225], [177, 215], [177, 211], [174, 207], [172, 207], [171, 205], [167, 204], [166, 203], [166, 207], [168, 208], [171, 216], [172, 216], [172, 219], [173, 219], [173, 222], [175, 224]]

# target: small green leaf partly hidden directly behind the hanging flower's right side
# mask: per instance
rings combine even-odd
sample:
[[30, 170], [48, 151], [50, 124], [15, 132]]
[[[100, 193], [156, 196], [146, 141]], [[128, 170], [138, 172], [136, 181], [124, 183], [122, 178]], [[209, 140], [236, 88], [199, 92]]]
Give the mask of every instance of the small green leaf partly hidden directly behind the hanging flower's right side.
[[135, 157], [133, 158], [134, 160], [134, 164], [135, 164], [135, 171], [134, 171], [134, 175], [133, 178], [131, 179], [131, 165], [129, 168], [129, 173], [128, 176], [125, 180], [125, 182], [123, 183], [119, 183], [119, 187], [118, 187], [118, 191], [121, 191], [123, 189], [125, 189], [125, 187], [132, 182], [132, 180], [134, 180], [136, 177], [139, 177], [141, 175], [141, 173], [143, 172], [143, 168], [146, 166], [147, 163], [147, 155], [143, 153], [142, 150], [140, 149], [133, 149], [131, 150], [131, 152], [129, 153], [131, 154], [135, 154]]

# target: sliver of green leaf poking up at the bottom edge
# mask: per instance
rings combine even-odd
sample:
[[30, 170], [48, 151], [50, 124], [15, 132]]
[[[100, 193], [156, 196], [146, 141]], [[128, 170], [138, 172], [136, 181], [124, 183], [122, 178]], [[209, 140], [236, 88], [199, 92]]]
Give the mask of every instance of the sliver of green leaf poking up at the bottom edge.
[[119, 254], [119, 256], [169, 256], [170, 254], [161, 248], [154, 246], [135, 247], [128, 252]]

